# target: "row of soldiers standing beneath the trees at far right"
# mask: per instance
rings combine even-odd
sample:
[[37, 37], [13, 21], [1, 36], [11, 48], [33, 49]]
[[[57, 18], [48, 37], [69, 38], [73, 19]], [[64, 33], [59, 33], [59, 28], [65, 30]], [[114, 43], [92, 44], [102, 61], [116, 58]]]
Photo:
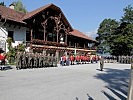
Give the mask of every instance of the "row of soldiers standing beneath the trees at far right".
[[131, 64], [133, 62], [133, 56], [119, 56], [118, 62], [124, 64]]

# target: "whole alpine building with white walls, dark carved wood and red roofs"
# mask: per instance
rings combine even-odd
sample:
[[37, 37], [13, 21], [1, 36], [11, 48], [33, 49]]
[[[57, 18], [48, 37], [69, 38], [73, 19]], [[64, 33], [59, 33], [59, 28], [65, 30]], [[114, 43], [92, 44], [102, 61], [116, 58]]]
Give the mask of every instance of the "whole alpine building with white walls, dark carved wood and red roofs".
[[[95, 52], [92, 38], [73, 29], [61, 9], [48, 4], [27, 14], [17, 12], [13, 7], [0, 6], [0, 48], [7, 50], [7, 37], [16, 46], [22, 42], [29, 52], [63, 54], [86, 54]], [[3, 43], [3, 44], [2, 44]], [[91, 47], [90, 47], [91, 45]]]

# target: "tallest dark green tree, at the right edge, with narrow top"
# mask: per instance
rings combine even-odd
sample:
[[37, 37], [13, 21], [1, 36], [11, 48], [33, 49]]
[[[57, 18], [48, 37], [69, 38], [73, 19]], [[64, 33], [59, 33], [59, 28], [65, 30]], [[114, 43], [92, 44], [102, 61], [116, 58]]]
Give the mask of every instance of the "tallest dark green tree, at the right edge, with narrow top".
[[133, 55], [133, 7], [128, 5], [123, 9], [124, 16], [116, 29], [111, 46], [114, 55]]

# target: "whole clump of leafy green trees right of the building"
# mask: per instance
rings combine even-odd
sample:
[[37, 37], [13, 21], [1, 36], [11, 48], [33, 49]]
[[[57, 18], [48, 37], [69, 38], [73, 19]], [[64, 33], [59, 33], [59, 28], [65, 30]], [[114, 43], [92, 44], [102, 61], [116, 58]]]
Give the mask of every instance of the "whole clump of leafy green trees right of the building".
[[133, 7], [124, 8], [120, 22], [105, 19], [98, 29], [99, 48], [112, 55], [133, 55]]

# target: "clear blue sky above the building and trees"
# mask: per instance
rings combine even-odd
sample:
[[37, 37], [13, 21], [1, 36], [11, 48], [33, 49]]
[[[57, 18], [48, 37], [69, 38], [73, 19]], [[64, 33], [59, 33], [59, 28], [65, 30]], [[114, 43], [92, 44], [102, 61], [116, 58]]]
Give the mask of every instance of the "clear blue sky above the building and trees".
[[[8, 6], [17, 0], [1, 0]], [[105, 18], [119, 20], [123, 16], [123, 8], [133, 0], [21, 0], [30, 12], [41, 6], [53, 3], [60, 7], [74, 29], [95, 36], [99, 24]]]

